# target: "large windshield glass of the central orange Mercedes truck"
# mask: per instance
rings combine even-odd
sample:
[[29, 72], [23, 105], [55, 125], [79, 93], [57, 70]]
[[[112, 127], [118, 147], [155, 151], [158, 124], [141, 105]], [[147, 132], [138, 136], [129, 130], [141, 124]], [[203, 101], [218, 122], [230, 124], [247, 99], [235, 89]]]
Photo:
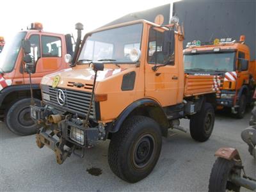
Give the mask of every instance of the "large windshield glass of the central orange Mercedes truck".
[[142, 24], [99, 31], [88, 36], [78, 61], [115, 61], [132, 63], [129, 58], [132, 48], [140, 49]]

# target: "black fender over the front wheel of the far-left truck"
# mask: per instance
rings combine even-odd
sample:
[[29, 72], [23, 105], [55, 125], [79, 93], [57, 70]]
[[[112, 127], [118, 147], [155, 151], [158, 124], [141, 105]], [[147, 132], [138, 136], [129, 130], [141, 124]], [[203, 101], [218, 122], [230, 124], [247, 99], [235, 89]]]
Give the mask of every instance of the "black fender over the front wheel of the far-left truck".
[[[32, 84], [32, 89], [33, 90], [40, 90], [39, 84]], [[24, 91], [24, 90], [30, 90], [30, 85], [29, 84], [21, 84], [21, 85], [11, 85], [7, 86], [0, 92], [0, 106], [9, 93], [12, 92], [17, 92], [17, 91]]]

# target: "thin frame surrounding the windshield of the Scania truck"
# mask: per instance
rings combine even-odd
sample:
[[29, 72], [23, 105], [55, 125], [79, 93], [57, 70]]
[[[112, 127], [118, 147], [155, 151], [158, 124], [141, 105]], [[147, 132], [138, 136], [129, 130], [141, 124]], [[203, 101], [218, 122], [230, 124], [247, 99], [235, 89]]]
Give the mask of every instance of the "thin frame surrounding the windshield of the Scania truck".
[[[195, 53], [192, 53], [191, 51], [189, 51], [189, 52], [186, 51], [186, 52], [184, 52], [184, 57], [187, 56], [187, 55], [198, 55], [198, 54], [205, 54], [206, 55], [206, 54], [222, 54], [222, 53], [234, 53], [234, 63], [233, 63], [232, 71], [236, 70], [236, 62], [237, 62], [237, 56], [236, 56], [237, 55], [237, 50], [236, 49], [221, 49], [221, 51], [218, 51], [218, 52], [214, 52], [212, 49], [211, 50], [204, 50], [204, 51], [196, 50]], [[183, 61], [184, 61], [184, 59], [183, 59]], [[212, 71], [210, 69], [207, 69], [207, 70], [205, 69], [202, 72], [228, 72], [228, 71], [226, 71], [226, 70], [215, 70], [215, 71]], [[185, 69], [185, 66], [184, 66], [184, 72], [200, 72], [200, 71], [193, 70], [192, 68], [191, 69]]]

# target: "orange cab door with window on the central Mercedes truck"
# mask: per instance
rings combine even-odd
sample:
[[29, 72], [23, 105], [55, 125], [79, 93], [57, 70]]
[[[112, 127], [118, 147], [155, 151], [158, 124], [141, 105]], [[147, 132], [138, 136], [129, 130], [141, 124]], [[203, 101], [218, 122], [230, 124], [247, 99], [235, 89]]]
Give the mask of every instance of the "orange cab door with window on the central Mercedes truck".
[[163, 40], [163, 30], [151, 26], [145, 61], [145, 96], [158, 100], [162, 106], [171, 106], [177, 104], [179, 68], [175, 65], [174, 52], [164, 54]]

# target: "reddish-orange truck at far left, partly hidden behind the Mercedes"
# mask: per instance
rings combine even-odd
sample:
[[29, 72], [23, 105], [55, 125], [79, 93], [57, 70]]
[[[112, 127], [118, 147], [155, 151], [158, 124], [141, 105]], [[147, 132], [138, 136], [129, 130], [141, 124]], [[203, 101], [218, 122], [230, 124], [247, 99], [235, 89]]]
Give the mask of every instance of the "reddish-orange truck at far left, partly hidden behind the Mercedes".
[[7, 127], [19, 135], [34, 134], [35, 122], [30, 118], [29, 74], [22, 61], [22, 40], [31, 42], [35, 72], [31, 75], [33, 96], [41, 99], [40, 81], [43, 76], [69, 67], [65, 54], [73, 54], [72, 37], [67, 34], [49, 33], [42, 24], [32, 23], [27, 30], [17, 33], [7, 42], [0, 54], [0, 116]]

